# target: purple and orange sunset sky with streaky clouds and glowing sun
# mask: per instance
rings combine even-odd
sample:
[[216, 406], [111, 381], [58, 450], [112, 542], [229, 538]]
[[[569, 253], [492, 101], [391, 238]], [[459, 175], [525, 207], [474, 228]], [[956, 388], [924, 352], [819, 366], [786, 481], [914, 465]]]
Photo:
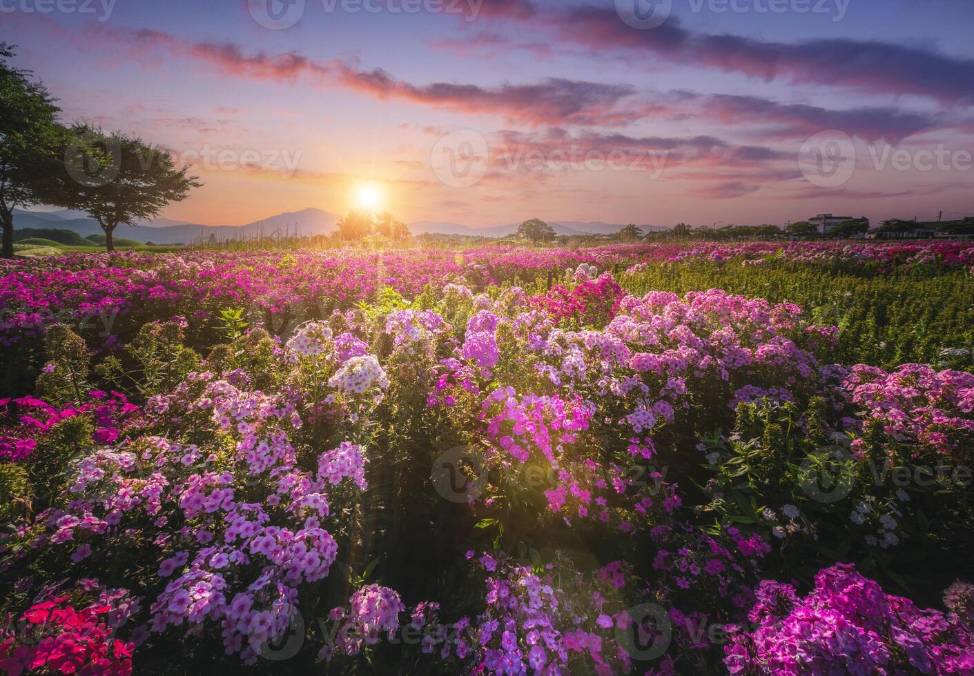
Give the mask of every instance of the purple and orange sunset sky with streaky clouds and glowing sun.
[[64, 122], [169, 149], [163, 215], [473, 227], [974, 215], [970, 0], [0, 0]]

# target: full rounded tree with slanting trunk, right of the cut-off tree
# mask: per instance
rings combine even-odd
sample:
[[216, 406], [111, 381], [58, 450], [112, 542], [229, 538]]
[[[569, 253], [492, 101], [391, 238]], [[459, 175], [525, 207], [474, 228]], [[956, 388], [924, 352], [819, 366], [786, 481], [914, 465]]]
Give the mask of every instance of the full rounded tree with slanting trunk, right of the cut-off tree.
[[102, 133], [75, 125], [57, 174], [62, 200], [87, 211], [105, 233], [105, 248], [114, 251], [112, 233], [119, 224], [134, 227], [153, 219], [169, 202], [181, 201], [200, 184], [189, 165], [176, 166], [169, 152], [121, 132]]

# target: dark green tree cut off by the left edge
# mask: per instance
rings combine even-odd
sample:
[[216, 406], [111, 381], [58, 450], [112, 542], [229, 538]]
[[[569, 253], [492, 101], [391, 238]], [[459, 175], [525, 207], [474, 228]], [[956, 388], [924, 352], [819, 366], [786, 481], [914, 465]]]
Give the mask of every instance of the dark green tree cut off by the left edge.
[[0, 224], [4, 258], [14, 256], [14, 207], [58, 203], [48, 183], [65, 135], [55, 99], [30, 72], [7, 59], [13, 48], [0, 43]]

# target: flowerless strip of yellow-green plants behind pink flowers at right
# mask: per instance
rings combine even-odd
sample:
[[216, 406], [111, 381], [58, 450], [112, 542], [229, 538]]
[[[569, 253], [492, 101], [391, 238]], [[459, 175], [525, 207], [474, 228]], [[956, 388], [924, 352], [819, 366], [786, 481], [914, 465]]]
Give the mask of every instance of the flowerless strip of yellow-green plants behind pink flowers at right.
[[974, 284], [962, 270], [918, 264], [878, 273], [868, 264], [823, 270], [776, 259], [757, 266], [694, 260], [647, 266], [619, 283], [640, 295], [725, 289], [798, 303], [816, 324], [840, 327], [837, 348], [825, 355], [840, 364], [974, 369]]

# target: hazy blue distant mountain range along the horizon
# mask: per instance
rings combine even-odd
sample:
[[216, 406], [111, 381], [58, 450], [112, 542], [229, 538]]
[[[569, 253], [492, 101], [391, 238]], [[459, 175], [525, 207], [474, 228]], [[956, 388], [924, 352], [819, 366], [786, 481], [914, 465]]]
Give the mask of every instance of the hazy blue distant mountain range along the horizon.
[[[115, 236], [156, 244], [186, 244], [208, 239], [210, 235], [214, 235], [218, 240], [254, 237], [260, 234], [264, 236], [293, 234], [295, 231], [301, 236], [307, 236], [328, 234], [334, 231], [339, 218], [340, 216], [336, 214], [315, 208], [288, 211], [243, 226], [205, 226], [188, 221], [157, 218], [153, 221], [142, 220], [135, 228], [119, 228], [115, 231]], [[625, 224], [605, 223], [603, 221], [549, 221], [549, 224], [558, 234], [612, 234], [625, 227]], [[407, 225], [413, 234], [431, 232], [434, 234], [466, 234], [484, 237], [505, 237], [514, 234], [518, 227], [517, 223], [507, 223], [501, 226], [473, 228], [458, 223], [435, 221], [416, 221]], [[14, 209], [14, 228], [56, 228], [74, 231], [83, 237], [101, 233], [101, 227], [97, 221], [89, 218], [84, 212], [71, 209], [60, 211]], [[644, 225], [640, 228], [643, 231], [666, 230], [658, 226]]]

